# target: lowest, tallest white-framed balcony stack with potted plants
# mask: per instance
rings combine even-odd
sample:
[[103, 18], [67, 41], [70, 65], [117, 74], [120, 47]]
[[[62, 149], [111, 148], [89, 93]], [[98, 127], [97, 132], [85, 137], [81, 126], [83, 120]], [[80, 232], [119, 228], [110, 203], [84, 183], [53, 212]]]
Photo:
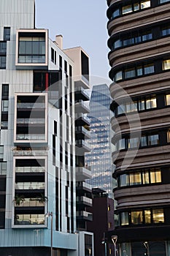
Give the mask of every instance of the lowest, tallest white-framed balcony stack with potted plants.
[[14, 157], [15, 187], [12, 227], [45, 227], [46, 159]]

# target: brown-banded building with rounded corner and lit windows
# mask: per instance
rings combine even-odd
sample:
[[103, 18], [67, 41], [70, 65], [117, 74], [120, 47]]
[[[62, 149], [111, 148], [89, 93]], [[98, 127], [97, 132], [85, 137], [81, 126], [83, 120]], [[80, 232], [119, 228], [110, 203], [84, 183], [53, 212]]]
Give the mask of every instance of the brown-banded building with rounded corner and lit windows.
[[107, 0], [119, 255], [170, 255], [170, 1]]

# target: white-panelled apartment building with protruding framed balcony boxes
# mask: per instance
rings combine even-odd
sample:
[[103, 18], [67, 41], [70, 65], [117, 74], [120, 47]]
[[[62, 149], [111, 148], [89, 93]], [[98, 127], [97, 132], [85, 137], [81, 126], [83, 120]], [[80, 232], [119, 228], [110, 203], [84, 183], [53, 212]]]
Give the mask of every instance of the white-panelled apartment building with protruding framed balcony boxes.
[[77, 148], [90, 148], [88, 130], [75, 129], [86, 108], [74, 101], [89, 87], [88, 55], [36, 29], [34, 0], [1, 0], [0, 17], [0, 255], [93, 255], [93, 234], [77, 233], [91, 206], [90, 187], [76, 189], [90, 177]]

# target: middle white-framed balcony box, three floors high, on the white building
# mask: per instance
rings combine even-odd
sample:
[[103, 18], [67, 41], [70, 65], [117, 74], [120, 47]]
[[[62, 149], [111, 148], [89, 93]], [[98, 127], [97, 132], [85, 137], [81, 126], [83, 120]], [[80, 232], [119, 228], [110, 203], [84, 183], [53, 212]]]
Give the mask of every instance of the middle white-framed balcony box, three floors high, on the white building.
[[14, 143], [47, 143], [47, 102], [46, 94], [15, 95]]

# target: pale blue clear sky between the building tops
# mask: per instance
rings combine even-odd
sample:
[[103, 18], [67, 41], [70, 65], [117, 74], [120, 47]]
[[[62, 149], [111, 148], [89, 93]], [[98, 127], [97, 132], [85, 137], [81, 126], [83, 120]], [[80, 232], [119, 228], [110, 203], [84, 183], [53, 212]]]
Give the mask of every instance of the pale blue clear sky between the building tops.
[[90, 75], [109, 79], [106, 0], [35, 0], [36, 28], [50, 38], [63, 35], [63, 48], [81, 46], [90, 56]]

